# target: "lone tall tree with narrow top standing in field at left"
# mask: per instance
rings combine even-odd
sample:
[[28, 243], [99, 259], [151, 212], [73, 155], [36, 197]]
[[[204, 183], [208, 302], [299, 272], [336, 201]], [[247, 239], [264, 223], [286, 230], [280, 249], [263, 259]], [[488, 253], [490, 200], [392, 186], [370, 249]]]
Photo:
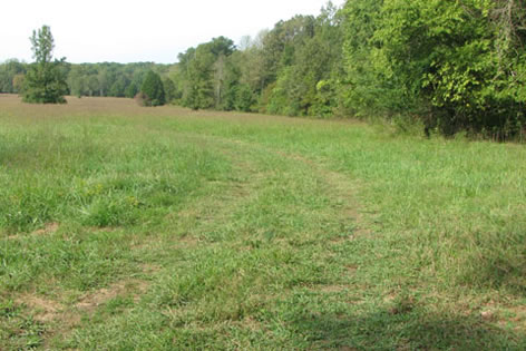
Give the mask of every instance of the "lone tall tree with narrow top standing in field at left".
[[68, 94], [66, 75], [62, 70], [65, 59], [51, 61], [55, 48], [51, 30], [47, 26], [33, 31], [31, 37], [36, 64], [29, 67], [25, 77], [22, 98], [26, 103], [65, 104]]

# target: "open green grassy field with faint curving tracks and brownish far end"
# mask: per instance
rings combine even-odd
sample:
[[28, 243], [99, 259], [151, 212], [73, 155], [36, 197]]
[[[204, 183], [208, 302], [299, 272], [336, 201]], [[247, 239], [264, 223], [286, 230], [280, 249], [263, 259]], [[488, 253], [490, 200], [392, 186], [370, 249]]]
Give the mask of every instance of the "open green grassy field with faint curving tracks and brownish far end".
[[526, 148], [0, 95], [0, 350], [524, 350]]

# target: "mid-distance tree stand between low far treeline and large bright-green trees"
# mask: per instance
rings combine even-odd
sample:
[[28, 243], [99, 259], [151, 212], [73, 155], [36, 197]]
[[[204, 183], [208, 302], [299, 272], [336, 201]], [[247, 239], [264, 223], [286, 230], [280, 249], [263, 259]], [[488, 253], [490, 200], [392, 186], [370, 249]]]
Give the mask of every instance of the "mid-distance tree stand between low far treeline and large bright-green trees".
[[175, 76], [181, 104], [194, 109], [269, 111], [327, 116], [337, 106], [316, 85], [339, 76], [341, 16], [328, 3], [322, 13], [280, 21], [241, 50], [220, 37], [179, 55]]

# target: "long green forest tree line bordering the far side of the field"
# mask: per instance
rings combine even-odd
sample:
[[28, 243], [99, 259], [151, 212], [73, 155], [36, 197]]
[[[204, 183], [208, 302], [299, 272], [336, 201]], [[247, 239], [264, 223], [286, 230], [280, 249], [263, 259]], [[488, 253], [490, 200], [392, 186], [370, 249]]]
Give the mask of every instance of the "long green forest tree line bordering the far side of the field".
[[[174, 65], [64, 62], [71, 95], [134, 97], [148, 71], [194, 109], [381, 118], [426, 134], [507, 139], [526, 126], [523, 0], [348, 0], [238, 46], [218, 36]], [[28, 65], [0, 65], [19, 92]]]

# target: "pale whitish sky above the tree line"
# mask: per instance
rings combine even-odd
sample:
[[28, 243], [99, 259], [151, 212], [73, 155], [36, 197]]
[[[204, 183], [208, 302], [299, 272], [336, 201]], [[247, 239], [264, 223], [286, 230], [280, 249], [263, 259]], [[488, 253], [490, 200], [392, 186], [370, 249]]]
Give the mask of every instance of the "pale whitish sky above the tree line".
[[[333, 0], [341, 6], [344, 0]], [[327, 0], [6, 0], [0, 62], [32, 61], [29, 37], [51, 27], [55, 57], [69, 62], [173, 64], [189, 47], [225, 36], [236, 43], [294, 14], [319, 14]]]

